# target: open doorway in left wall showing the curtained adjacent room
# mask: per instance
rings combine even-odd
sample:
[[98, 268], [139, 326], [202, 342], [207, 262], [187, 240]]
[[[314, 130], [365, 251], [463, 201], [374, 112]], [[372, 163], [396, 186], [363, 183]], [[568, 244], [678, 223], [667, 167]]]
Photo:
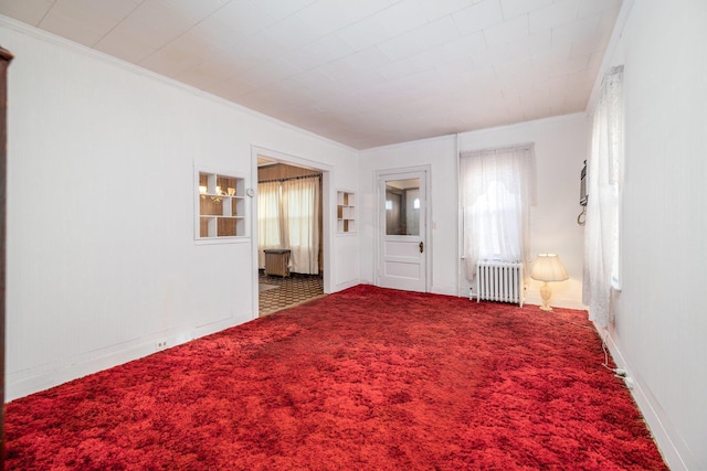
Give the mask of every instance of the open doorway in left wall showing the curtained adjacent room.
[[257, 153], [257, 312], [260, 317], [325, 293], [328, 171], [289, 156]]

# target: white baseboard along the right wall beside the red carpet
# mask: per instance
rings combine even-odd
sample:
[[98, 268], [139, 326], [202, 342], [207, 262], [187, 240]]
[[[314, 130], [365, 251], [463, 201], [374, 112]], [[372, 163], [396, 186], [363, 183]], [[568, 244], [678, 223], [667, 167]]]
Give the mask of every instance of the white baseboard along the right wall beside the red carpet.
[[[619, 345], [614, 343], [611, 335], [606, 334], [606, 331], [594, 325], [600, 335], [606, 335], [606, 346], [609, 352], [616, 364], [616, 367], [626, 371], [627, 376], [633, 379], [633, 388], [630, 389], [633, 399], [636, 402], [643, 418], [645, 419], [653, 438], [658, 446], [663, 459], [668, 468], [673, 471], [688, 471], [696, 469], [685, 461], [685, 457], [689, 456], [689, 451], [685, 449], [682, 451], [677, 440], [673, 437], [677, 437], [674, 428], [671, 426], [663, 408], [658, 405], [657, 400], [650, 393], [650, 388], [645, 385], [640, 375], [635, 374], [630, 362], [621, 353]], [[686, 447], [684, 447], [686, 448]]]

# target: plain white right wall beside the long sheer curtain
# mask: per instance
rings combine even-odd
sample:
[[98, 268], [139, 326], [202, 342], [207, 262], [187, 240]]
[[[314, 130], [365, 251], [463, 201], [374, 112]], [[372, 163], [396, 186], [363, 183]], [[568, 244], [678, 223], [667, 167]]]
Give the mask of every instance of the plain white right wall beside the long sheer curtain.
[[706, 24], [707, 2], [636, 1], [612, 58], [624, 64], [625, 181], [610, 334], [673, 470], [707, 469]]

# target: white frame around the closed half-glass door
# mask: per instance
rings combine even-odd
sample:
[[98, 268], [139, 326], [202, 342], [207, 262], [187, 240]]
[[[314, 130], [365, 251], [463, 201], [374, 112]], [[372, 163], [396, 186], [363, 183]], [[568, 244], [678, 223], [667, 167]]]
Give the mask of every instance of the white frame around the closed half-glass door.
[[403, 167], [397, 169], [383, 169], [376, 170], [373, 172], [373, 189], [376, 189], [376, 207], [374, 207], [374, 239], [373, 244], [373, 282], [376, 286], [380, 286], [380, 270], [382, 263], [382, 254], [380, 253], [380, 247], [383, 238], [383, 233], [386, 232], [386, 227], [381, 227], [381, 217], [380, 212], [386, 211], [386, 201], [380, 197], [379, 190], [379, 181], [381, 178], [386, 178], [387, 175], [395, 175], [398, 173], [408, 173], [408, 172], [422, 172], [424, 173], [424, 189], [425, 189], [425, 203], [426, 211], [424, 213], [424, 260], [425, 260], [425, 274], [424, 274], [424, 292], [431, 292], [432, 287], [432, 192], [430, 181], [432, 174], [431, 165], [416, 165], [416, 167]]

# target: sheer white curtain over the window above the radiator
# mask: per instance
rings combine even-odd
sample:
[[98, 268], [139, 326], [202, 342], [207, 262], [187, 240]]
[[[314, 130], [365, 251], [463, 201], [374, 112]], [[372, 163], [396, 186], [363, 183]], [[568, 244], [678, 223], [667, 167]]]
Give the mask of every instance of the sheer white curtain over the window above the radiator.
[[526, 261], [534, 144], [462, 152], [460, 179], [466, 278], [474, 281], [482, 259]]

